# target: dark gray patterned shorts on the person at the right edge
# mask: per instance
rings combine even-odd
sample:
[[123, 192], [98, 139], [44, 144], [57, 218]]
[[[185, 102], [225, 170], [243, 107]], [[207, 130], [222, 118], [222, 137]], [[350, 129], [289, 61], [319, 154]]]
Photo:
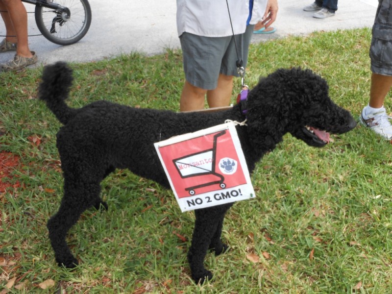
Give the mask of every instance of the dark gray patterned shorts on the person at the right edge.
[[392, 0], [379, 0], [369, 50], [373, 73], [392, 75]]

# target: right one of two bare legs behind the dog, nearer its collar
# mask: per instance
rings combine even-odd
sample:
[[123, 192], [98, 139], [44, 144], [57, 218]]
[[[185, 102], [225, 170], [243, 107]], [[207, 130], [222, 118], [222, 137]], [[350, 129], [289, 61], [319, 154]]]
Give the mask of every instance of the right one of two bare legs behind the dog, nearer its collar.
[[218, 86], [207, 91], [207, 102], [210, 107], [224, 107], [230, 105], [233, 92], [233, 76], [219, 74]]

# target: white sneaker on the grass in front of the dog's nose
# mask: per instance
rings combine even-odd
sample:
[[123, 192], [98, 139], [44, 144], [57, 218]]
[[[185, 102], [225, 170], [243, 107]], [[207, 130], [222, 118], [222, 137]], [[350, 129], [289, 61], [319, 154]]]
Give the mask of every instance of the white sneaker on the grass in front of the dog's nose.
[[392, 140], [392, 124], [389, 120], [392, 118], [387, 115], [387, 111], [384, 107], [379, 112], [370, 113], [365, 115], [365, 109], [362, 110], [362, 114], [359, 116], [359, 122], [369, 127], [375, 133], [383, 136], [387, 140]]

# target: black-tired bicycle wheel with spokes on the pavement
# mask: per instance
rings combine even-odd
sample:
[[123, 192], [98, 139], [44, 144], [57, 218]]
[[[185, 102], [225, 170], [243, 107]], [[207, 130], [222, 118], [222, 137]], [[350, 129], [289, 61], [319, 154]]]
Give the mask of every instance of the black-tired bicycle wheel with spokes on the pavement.
[[79, 41], [90, 28], [91, 8], [87, 0], [54, 0], [65, 11], [35, 6], [35, 22], [42, 35], [58, 45]]

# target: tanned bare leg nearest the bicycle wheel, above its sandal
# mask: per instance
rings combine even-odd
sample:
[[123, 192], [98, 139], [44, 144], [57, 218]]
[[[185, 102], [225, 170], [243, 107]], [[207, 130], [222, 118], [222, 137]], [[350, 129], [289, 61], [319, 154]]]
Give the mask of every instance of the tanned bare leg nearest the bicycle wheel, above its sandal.
[[17, 36], [18, 41], [12, 42], [18, 43], [16, 53], [22, 57], [33, 57], [28, 48], [27, 12], [25, 5], [23, 5], [21, 0], [2, 0], [2, 3], [8, 11], [9, 18]]

